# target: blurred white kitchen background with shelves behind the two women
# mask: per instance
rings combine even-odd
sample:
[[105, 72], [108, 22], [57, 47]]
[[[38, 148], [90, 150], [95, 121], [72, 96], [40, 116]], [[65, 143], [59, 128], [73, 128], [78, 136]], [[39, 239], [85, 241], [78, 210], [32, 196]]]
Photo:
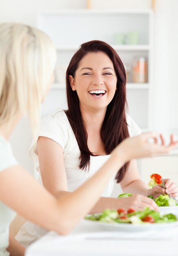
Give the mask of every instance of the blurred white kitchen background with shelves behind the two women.
[[[0, 22], [23, 22], [46, 31], [56, 44], [55, 83], [42, 116], [67, 108], [65, 70], [87, 40], [104, 40], [116, 49], [127, 72], [129, 114], [142, 131], [178, 139], [177, 0], [0, 0]], [[20, 139], [19, 139], [20, 138]], [[11, 137], [18, 161], [36, 176], [28, 157], [32, 137], [27, 117]], [[178, 150], [170, 156], [138, 160], [140, 174], [160, 173], [178, 184]], [[120, 193], [115, 186], [113, 195]]]

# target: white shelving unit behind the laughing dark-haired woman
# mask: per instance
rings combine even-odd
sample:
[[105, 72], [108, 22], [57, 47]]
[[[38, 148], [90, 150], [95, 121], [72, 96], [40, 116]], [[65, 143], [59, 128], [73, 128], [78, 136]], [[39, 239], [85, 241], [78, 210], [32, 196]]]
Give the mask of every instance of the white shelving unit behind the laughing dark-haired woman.
[[[56, 45], [58, 63], [43, 115], [58, 107], [67, 108], [65, 70], [80, 44], [103, 40], [119, 54], [127, 70], [129, 114], [142, 130], [152, 127], [153, 13], [151, 10], [78, 9], [44, 11], [38, 15], [38, 27]], [[140, 57], [147, 63], [147, 80], [133, 83], [133, 63]], [[59, 98], [58, 98], [59, 97]], [[60, 102], [62, 103], [60, 104]]]

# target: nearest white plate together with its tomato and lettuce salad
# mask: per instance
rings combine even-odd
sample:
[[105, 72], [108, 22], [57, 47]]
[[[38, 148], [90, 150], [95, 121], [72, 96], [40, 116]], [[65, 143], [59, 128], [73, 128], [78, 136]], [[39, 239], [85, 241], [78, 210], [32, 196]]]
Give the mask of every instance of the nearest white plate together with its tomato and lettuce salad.
[[[161, 207], [160, 207], [161, 208]], [[89, 214], [85, 219], [110, 231], [148, 231], [163, 230], [178, 227], [178, 215], [173, 213], [160, 213], [149, 207], [142, 211], [134, 209], [118, 210], [106, 209], [102, 213]]]

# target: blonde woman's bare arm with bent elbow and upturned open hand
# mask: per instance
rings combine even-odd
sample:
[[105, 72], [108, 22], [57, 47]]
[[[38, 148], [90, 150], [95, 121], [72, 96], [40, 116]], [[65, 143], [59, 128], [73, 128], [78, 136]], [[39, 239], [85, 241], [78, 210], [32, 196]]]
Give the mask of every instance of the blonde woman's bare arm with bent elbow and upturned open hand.
[[[154, 137], [154, 144], [148, 142], [150, 137]], [[169, 146], [158, 146], [156, 142], [156, 135], [151, 132], [125, 139], [97, 173], [76, 191], [59, 199], [40, 186], [21, 166], [8, 168], [0, 172], [0, 200], [41, 227], [68, 234], [96, 204], [108, 180], [125, 162], [167, 154], [178, 146], [173, 139]]]

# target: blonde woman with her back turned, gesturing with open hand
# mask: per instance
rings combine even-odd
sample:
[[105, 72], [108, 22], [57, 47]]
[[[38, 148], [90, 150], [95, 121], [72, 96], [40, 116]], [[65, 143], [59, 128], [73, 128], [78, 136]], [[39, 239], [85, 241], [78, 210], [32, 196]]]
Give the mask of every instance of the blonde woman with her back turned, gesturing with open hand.
[[[40, 103], [53, 82], [55, 62], [53, 43], [42, 31], [22, 24], [0, 25], [0, 256], [9, 252], [24, 255], [24, 247], [9, 239], [15, 212], [45, 229], [67, 234], [96, 204], [109, 178], [126, 162], [167, 154], [178, 145], [171, 137], [169, 146], [159, 146], [157, 135], [151, 132], [125, 139], [84, 185], [64, 198], [55, 198], [18, 164], [8, 142], [26, 113], [36, 134]], [[154, 144], [148, 142], [150, 137]], [[151, 204], [156, 207], [153, 201]]]

